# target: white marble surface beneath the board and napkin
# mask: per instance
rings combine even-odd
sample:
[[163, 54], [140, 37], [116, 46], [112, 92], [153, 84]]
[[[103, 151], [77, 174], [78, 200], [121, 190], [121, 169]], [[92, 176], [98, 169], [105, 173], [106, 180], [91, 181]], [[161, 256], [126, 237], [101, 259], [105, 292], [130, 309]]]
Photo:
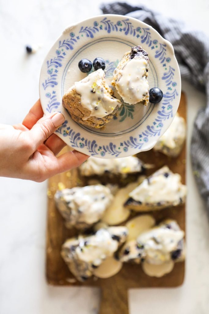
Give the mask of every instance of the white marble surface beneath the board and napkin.
[[[99, 14], [99, 4], [93, 0], [0, 0], [1, 123], [22, 121], [39, 97], [39, 72], [46, 52], [68, 24]], [[209, 35], [206, 0], [150, 0], [149, 6], [182, 18], [191, 27], [206, 28]], [[26, 56], [24, 46], [33, 42], [42, 42], [43, 47]], [[185, 283], [176, 289], [130, 290], [131, 314], [209, 311], [209, 224], [189, 156], [192, 124], [206, 98], [187, 83], [183, 82], [182, 89], [188, 100]], [[46, 182], [0, 178], [0, 185], [0, 313], [97, 313], [99, 290], [50, 287], [45, 282]]]

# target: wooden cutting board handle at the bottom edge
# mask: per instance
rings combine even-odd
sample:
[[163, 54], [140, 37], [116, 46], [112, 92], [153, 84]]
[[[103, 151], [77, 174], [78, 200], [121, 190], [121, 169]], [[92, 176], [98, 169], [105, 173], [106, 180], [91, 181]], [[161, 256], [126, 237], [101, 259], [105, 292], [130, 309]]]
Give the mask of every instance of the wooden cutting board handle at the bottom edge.
[[99, 314], [128, 314], [128, 291], [124, 287], [102, 287]]

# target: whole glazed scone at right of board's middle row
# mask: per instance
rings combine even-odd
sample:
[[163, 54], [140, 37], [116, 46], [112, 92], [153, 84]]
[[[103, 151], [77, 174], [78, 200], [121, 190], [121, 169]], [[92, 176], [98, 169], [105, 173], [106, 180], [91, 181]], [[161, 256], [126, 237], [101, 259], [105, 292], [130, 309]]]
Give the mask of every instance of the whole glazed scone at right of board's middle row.
[[163, 166], [130, 192], [124, 205], [136, 211], [159, 210], [183, 204], [185, 198], [180, 174]]

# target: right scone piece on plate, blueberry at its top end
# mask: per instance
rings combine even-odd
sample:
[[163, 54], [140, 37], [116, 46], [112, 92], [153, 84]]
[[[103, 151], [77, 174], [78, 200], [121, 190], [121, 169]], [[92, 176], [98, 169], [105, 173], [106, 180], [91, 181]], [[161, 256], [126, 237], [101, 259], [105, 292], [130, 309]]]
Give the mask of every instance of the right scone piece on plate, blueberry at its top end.
[[149, 102], [148, 53], [141, 46], [126, 52], [113, 72], [112, 85], [129, 105]]

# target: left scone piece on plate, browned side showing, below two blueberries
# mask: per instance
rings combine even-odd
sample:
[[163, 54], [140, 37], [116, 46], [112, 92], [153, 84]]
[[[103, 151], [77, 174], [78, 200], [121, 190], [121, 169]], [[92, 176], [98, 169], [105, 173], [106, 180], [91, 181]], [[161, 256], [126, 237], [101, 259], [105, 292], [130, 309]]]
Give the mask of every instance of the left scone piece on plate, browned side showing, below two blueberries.
[[102, 69], [89, 74], [68, 89], [62, 97], [62, 105], [72, 119], [93, 128], [101, 128], [109, 122], [118, 108], [120, 100], [113, 97]]

